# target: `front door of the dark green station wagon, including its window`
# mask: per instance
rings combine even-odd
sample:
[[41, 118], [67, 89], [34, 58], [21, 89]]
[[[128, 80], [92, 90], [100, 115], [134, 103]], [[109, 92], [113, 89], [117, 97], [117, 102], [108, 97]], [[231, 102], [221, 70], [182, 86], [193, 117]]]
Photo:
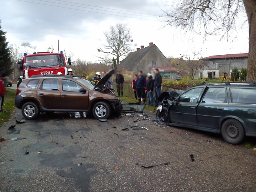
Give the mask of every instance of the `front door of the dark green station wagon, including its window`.
[[192, 88], [184, 92], [175, 105], [170, 108], [170, 120], [173, 123], [197, 126], [196, 109], [204, 87]]

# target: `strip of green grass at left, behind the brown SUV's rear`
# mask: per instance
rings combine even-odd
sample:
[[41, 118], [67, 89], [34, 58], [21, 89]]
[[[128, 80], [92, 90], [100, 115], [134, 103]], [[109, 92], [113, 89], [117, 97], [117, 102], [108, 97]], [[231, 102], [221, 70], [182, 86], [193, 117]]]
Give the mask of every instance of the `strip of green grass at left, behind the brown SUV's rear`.
[[7, 122], [10, 119], [11, 113], [15, 108], [14, 98], [16, 95], [16, 90], [13, 89], [5, 89], [5, 96], [4, 96], [4, 105], [2, 109], [3, 112], [0, 112], [0, 125], [4, 122]]

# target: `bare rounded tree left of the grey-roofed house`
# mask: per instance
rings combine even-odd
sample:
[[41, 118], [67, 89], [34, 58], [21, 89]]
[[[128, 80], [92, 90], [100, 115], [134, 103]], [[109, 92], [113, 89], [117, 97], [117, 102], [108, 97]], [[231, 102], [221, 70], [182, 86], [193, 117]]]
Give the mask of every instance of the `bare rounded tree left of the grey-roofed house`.
[[[98, 52], [103, 52], [106, 56], [111, 56], [116, 58], [116, 63], [121, 62], [121, 58], [126, 56], [130, 51], [133, 50], [132, 37], [130, 35], [130, 29], [126, 28], [123, 24], [116, 24], [116, 26], [110, 26], [109, 32], [104, 32], [106, 37], [106, 44], [102, 44], [102, 48], [98, 48]], [[105, 58], [99, 57], [108, 62]]]

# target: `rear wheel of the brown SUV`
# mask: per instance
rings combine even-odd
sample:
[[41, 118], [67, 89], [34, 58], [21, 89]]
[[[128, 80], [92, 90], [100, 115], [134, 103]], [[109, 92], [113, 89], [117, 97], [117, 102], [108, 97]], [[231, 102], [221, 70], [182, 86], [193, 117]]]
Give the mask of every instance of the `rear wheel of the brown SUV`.
[[34, 102], [26, 102], [21, 108], [22, 115], [25, 119], [36, 119], [39, 115], [39, 108]]

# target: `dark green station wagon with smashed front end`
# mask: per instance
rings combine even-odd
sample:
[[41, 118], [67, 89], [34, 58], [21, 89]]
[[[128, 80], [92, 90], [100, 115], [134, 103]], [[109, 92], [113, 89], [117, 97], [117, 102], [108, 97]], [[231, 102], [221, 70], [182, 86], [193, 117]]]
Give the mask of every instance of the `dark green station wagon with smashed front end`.
[[239, 144], [256, 136], [256, 82], [202, 82], [172, 101], [167, 115], [169, 126], [221, 133]]

